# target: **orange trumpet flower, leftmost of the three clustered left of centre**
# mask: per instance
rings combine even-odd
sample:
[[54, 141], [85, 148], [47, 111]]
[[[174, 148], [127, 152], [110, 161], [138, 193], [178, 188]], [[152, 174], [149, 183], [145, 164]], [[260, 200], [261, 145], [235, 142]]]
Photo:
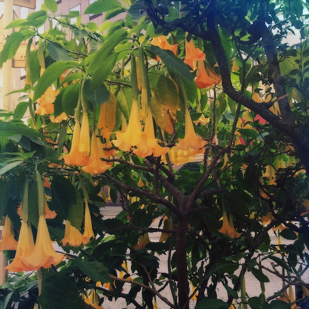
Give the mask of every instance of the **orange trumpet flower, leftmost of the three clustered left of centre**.
[[89, 156], [81, 153], [79, 151], [79, 141], [80, 141], [80, 124], [77, 121], [75, 123], [72, 145], [69, 154], [64, 154], [63, 159], [67, 165], [85, 166], [89, 164]]

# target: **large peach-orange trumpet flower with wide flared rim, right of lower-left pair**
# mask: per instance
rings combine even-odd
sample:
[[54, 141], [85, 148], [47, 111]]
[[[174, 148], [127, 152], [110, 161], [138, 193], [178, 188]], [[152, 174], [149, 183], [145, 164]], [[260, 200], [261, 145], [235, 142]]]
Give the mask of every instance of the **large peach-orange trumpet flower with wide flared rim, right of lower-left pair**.
[[40, 267], [50, 268], [52, 265], [57, 265], [64, 257], [64, 254], [57, 253], [53, 248], [45, 216], [44, 214], [40, 214], [34, 250], [31, 254], [22, 257], [22, 261], [29, 270], [37, 270]]

